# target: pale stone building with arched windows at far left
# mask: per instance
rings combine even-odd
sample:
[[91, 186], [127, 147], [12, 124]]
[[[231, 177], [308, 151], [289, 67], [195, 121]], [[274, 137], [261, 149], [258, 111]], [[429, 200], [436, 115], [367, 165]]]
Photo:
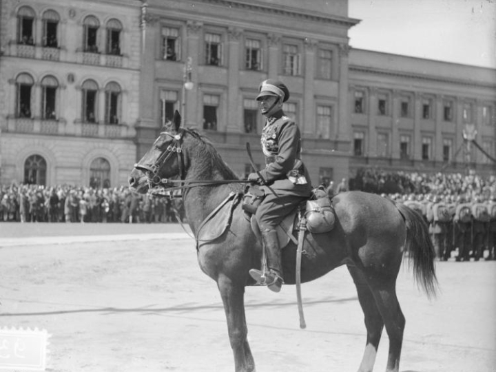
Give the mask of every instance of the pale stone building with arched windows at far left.
[[141, 1], [1, 1], [0, 183], [124, 185]]

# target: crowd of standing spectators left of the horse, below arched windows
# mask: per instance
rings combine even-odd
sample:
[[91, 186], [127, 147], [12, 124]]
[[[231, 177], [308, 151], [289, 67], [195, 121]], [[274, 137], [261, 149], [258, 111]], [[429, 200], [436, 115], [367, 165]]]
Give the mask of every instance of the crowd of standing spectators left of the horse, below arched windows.
[[127, 187], [0, 187], [0, 222], [169, 223], [182, 214], [180, 199], [152, 198]]

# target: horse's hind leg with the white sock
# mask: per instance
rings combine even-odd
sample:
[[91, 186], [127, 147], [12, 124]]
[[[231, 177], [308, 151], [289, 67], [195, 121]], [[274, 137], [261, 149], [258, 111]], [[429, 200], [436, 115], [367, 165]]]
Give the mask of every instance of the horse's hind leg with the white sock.
[[355, 282], [358, 292], [358, 301], [362, 307], [365, 316], [365, 327], [367, 330], [367, 339], [362, 363], [358, 372], [371, 372], [375, 364], [375, 357], [377, 355], [382, 329], [384, 328], [384, 321], [375, 304], [375, 298], [366, 282], [364, 275], [360, 269], [353, 266], [348, 266], [348, 271]]

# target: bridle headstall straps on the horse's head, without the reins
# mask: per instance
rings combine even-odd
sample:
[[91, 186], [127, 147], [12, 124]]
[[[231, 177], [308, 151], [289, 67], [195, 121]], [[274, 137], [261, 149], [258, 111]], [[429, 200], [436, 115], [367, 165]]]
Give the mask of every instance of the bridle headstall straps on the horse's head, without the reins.
[[[158, 175], [158, 171], [163, 167], [165, 161], [170, 157], [177, 154], [178, 157], [178, 167], [179, 167], [179, 178], [184, 179], [184, 161], [183, 161], [183, 150], [180, 148], [181, 142], [183, 140], [184, 130], [179, 130], [178, 134], [170, 134], [169, 132], [161, 132], [161, 135], [169, 136], [174, 139], [171, 145], [167, 146], [160, 156], [156, 159], [155, 163], [152, 165], [143, 165], [140, 163], [134, 164], [134, 168], [144, 172], [148, 178], [149, 189], [154, 189], [156, 187], [172, 187], [172, 180], [167, 178], [161, 178]], [[176, 181], [178, 182], [178, 181]], [[180, 181], [179, 181], [180, 182]]]

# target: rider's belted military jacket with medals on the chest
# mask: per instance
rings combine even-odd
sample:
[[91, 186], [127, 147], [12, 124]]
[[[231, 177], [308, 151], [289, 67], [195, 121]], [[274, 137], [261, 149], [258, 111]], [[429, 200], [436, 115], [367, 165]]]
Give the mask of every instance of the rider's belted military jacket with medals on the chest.
[[[282, 110], [267, 118], [260, 138], [265, 169], [260, 171], [267, 184], [278, 194], [309, 196], [310, 177], [301, 161], [300, 129]], [[266, 190], [267, 192], [267, 190]]]

